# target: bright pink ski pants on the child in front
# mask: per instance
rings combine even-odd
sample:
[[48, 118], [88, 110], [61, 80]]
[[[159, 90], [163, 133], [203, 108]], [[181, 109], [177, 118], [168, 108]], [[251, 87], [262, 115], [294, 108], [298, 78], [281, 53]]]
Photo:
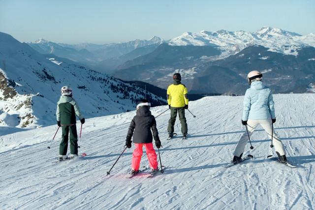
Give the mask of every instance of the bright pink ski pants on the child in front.
[[157, 161], [157, 153], [156, 150], [154, 150], [153, 148], [153, 144], [152, 143], [147, 143], [147, 144], [134, 144], [134, 146], [136, 147], [133, 150], [132, 153], [132, 162], [131, 162], [131, 168], [133, 170], [139, 170], [140, 167], [140, 161], [141, 161], [141, 156], [143, 154], [143, 146], [146, 148], [146, 152], [147, 152], [147, 157], [149, 160], [149, 166], [150, 168], [153, 169], [157, 169], [158, 168], [158, 161]]

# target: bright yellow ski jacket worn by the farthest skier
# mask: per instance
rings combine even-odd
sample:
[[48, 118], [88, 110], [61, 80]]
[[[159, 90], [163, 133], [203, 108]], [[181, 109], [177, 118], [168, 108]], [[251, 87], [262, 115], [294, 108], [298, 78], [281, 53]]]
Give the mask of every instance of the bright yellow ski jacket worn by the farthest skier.
[[168, 86], [166, 98], [168, 105], [171, 105], [171, 107], [188, 105], [188, 91], [179, 80], [174, 80], [173, 84]]

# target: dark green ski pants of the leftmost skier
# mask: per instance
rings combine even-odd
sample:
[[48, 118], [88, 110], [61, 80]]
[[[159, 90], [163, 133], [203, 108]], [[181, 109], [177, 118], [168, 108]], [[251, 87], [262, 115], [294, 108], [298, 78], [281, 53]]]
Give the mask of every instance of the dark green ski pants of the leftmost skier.
[[59, 154], [66, 155], [68, 150], [68, 139], [70, 132], [70, 153], [78, 154], [78, 135], [77, 126], [73, 125], [63, 125], [63, 140], [59, 146]]

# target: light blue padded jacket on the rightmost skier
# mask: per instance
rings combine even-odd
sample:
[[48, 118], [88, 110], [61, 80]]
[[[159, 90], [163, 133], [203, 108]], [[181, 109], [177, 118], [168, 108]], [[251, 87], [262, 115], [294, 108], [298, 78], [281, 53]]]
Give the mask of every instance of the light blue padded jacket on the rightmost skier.
[[269, 87], [262, 81], [254, 81], [246, 90], [242, 120], [275, 119], [275, 102]]

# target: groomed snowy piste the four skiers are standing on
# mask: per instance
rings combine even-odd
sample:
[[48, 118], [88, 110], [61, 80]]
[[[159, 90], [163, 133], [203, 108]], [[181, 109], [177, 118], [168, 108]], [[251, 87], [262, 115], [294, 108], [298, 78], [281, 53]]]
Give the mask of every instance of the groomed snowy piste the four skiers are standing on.
[[[254, 158], [225, 169], [240, 136], [243, 97], [211, 96], [189, 103], [189, 137], [166, 140], [169, 112], [157, 117], [164, 174], [126, 179], [132, 150], [124, 150], [135, 111], [86, 120], [80, 153], [88, 156], [56, 163], [61, 141], [57, 126], [0, 137], [0, 209], [315, 209], [315, 94], [275, 94], [276, 131], [291, 169], [267, 159], [275, 154], [261, 127], [252, 135]], [[223, 105], [222, 105], [223, 104]], [[167, 106], [154, 107], [158, 116]], [[311, 116], [311, 117], [310, 117]], [[79, 123], [79, 121], [78, 121]], [[79, 130], [79, 124], [78, 128]], [[148, 165], [144, 154], [141, 165]]]

